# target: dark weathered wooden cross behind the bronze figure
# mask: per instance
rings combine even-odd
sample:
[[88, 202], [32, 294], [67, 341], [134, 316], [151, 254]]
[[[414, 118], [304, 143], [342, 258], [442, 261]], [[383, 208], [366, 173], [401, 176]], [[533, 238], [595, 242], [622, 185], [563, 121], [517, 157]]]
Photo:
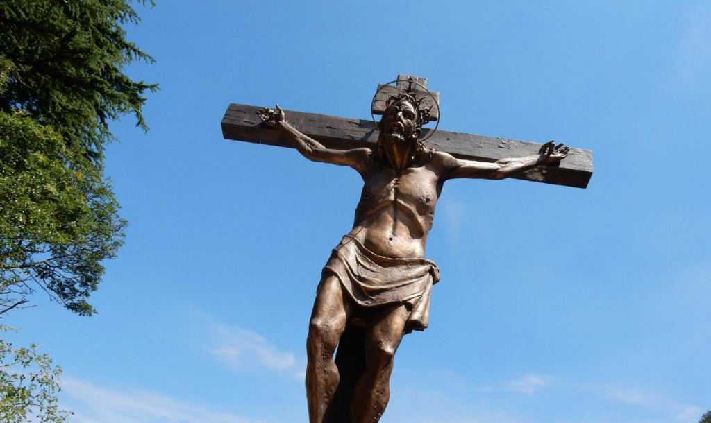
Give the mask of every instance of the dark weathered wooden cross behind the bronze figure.
[[[407, 88], [407, 81], [411, 78], [427, 87], [427, 79], [398, 75], [397, 86], [383, 87], [378, 92], [373, 103], [373, 114], [383, 114], [387, 97], [397, 93], [399, 89]], [[412, 86], [413, 88], [419, 87], [415, 87], [415, 84]], [[432, 94], [435, 98], [434, 101], [439, 104], [439, 93], [432, 92]], [[293, 148], [293, 145], [279, 132], [262, 123], [257, 116], [257, 111], [262, 109], [261, 106], [230, 104], [222, 120], [224, 138]], [[437, 107], [432, 108], [432, 120], [439, 119], [438, 111]], [[375, 141], [378, 140], [378, 130], [375, 128], [375, 123], [370, 120], [363, 121], [289, 110], [286, 113], [287, 120], [294, 128], [324, 144], [327, 148], [340, 150], [359, 148], [375, 145]], [[432, 129], [422, 128], [422, 138], [427, 137], [429, 131]], [[438, 130], [427, 141], [424, 141], [424, 145], [427, 148], [444, 151], [457, 158], [495, 162], [503, 158], [519, 158], [538, 154], [542, 144]], [[592, 177], [592, 151], [571, 148], [570, 153], [562, 162], [556, 165], [534, 167], [532, 170], [514, 177], [533, 182], [585, 188]]]

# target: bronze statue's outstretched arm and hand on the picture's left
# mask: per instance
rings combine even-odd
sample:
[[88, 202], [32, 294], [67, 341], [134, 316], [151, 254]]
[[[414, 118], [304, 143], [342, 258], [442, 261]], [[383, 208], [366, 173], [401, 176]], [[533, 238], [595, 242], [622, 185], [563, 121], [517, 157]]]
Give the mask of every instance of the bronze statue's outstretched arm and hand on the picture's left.
[[257, 112], [266, 125], [276, 128], [287, 138], [296, 150], [305, 158], [314, 162], [331, 163], [333, 165], [353, 167], [358, 170], [361, 175], [365, 172], [365, 160], [372, 150], [370, 148], [353, 148], [351, 150], [335, 150], [326, 148], [319, 141], [314, 140], [309, 136], [304, 135], [289, 125], [286, 121], [284, 110], [277, 104], [277, 110], [274, 111], [265, 107]]

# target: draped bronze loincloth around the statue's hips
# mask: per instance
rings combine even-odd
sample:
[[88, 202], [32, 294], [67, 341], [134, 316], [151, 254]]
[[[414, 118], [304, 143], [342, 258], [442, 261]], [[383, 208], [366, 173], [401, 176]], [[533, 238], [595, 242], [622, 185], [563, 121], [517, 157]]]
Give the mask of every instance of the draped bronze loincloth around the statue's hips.
[[427, 328], [432, 285], [439, 282], [439, 268], [432, 260], [379, 256], [345, 236], [324, 267], [324, 277], [329, 273], [363, 307], [410, 304], [407, 332]]

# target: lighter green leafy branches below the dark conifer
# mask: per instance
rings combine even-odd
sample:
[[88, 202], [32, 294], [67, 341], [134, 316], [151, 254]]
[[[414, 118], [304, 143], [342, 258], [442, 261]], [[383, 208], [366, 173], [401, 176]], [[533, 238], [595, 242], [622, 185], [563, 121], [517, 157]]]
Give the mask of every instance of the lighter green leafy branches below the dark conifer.
[[94, 311], [102, 260], [125, 221], [102, 169], [48, 126], [0, 112], [0, 315], [41, 287], [79, 314]]

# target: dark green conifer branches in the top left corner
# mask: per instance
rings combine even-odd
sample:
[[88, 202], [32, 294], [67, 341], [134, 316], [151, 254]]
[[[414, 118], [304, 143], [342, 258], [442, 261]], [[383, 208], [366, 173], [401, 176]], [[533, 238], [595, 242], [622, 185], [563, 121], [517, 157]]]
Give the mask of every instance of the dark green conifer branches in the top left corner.
[[[143, 94], [124, 65], [152, 58], [126, 40], [139, 23], [130, 0], [6, 0], [0, 3], [0, 110], [25, 110], [98, 162], [112, 139], [107, 122], [133, 113], [146, 129]], [[145, 0], [139, 3], [145, 4]]]

